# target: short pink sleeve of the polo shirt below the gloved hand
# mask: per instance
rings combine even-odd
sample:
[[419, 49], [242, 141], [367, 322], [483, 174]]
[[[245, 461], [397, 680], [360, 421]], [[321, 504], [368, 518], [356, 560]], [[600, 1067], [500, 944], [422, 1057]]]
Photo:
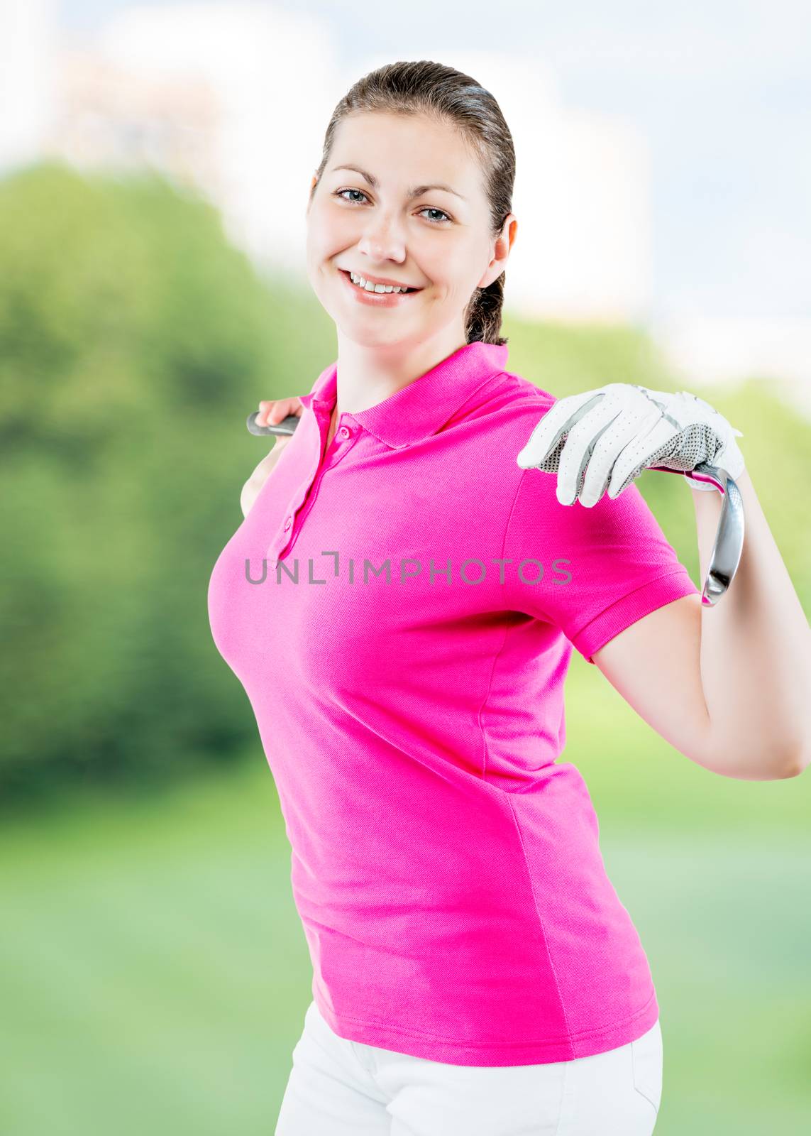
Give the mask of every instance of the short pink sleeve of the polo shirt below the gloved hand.
[[637, 619], [701, 594], [634, 482], [591, 509], [561, 504], [555, 490], [557, 475], [524, 470], [503, 552], [513, 610], [559, 627], [593, 663]]

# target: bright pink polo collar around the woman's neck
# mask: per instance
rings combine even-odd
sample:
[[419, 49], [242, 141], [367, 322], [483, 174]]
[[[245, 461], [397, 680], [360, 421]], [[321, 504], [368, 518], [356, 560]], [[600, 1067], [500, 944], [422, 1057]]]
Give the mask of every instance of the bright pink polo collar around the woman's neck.
[[[436, 434], [479, 386], [502, 374], [508, 353], [505, 343], [466, 343], [376, 407], [349, 417], [393, 449], [420, 442]], [[333, 362], [300, 401], [332, 412], [336, 398], [337, 362]]]

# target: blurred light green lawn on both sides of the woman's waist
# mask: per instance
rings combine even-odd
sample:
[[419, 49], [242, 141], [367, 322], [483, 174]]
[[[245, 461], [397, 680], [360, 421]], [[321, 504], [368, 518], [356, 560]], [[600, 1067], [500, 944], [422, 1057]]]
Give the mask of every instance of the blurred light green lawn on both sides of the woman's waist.
[[[811, 775], [702, 770], [579, 660], [567, 709], [563, 760], [657, 984], [657, 1136], [799, 1136]], [[261, 750], [154, 799], [7, 820], [0, 860], [3, 1136], [271, 1136], [311, 971]]]

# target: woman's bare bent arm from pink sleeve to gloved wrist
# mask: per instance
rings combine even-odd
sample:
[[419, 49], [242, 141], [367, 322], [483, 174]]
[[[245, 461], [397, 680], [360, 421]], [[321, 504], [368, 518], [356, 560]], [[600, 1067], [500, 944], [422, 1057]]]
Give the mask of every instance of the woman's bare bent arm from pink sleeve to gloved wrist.
[[[611, 685], [671, 745], [725, 777], [776, 780], [811, 757], [811, 634], [747, 473], [746, 536], [716, 607], [687, 595], [594, 654]], [[702, 579], [721, 500], [693, 493]]]

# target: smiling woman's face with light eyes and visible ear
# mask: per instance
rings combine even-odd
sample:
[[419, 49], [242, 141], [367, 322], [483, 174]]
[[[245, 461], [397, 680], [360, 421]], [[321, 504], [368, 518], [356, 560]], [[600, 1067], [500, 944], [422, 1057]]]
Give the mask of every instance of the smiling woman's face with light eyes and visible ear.
[[[348, 166], [354, 168], [336, 168]], [[438, 184], [448, 189], [415, 193]], [[424, 116], [353, 115], [338, 125], [308, 206], [307, 273], [356, 343], [407, 346], [445, 327], [458, 327], [463, 341], [473, 291], [503, 272], [516, 225], [510, 214], [510, 240], [491, 237], [482, 168], [451, 126]], [[370, 298], [348, 272], [418, 291]]]

